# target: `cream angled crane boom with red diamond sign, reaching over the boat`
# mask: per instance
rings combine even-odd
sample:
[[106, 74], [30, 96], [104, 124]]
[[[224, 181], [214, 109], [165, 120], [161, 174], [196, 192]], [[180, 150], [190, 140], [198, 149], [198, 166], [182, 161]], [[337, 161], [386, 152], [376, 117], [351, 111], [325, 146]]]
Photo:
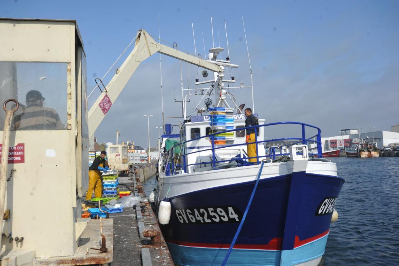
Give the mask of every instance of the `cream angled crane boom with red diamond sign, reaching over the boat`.
[[117, 73], [115, 73], [111, 81], [109, 81], [106, 90], [101, 93], [89, 110], [89, 138], [94, 135], [97, 127], [111, 108], [112, 103], [115, 103], [115, 100], [118, 98], [134, 71], [136, 71], [138, 65], [156, 52], [188, 62], [195, 66], [203, 67], [213, 72], [223, 71], [223, 67], [217, 64], [159, 44], [145, 30], [138, 30], [138, 36], [132, 52], [123, 62], [122, 66], [117, 69]]

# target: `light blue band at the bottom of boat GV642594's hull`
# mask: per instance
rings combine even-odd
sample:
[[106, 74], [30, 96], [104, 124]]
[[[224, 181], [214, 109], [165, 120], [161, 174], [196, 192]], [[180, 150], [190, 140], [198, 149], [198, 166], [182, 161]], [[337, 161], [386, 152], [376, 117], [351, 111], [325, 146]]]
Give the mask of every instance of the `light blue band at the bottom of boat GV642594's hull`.
[[[319, 258], [324, 254], [327, 237], [310, 242], [306, 245], [294, 248], [293, 250], [250, 250], [233, 249], [227, 261], [227, 265], [280, 265], [280, 260], [292, 264], [299, 264]], [[221, 265], [227, 253], [227, 248], [199, 248], [180, 246], [168, 243], [170, 252], [176, 265], [197, 266], [197, 265]], [[186, 261], [195, 264], [184, 264]], [[286, 263], [281, 265], [287, 265]]]

